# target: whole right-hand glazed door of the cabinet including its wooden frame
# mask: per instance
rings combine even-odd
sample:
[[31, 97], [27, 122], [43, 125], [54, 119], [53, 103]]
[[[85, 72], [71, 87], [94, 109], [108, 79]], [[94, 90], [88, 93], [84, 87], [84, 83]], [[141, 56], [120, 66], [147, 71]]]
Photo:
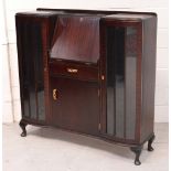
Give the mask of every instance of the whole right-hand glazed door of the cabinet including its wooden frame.
[[[103, 132], [118, 141], [136, 141], [139, 129], [138, 72], [140, 23], [115, 23], [103, 29]], [[140, 72], [139, 72], [140, 73]], [[140, 77], [139, 77], [140, 78]]]

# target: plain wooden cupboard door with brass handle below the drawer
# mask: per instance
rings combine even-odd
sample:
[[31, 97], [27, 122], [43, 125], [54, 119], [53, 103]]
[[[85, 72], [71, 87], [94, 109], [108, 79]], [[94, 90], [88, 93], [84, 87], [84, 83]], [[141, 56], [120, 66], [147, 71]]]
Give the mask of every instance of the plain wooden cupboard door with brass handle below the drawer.
[[89, 135], [98, 133], [97, 83], [51, 77], [51, 93], [53, 125]]

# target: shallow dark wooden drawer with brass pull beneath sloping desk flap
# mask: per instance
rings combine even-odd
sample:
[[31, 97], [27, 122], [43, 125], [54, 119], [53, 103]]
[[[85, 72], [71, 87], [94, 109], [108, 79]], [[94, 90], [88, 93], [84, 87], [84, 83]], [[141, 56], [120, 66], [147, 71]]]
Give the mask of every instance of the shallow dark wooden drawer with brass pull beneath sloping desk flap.
[[73, 62], [50, 62], [50, 75], [62, 75], [82, 81], [98, 81], [98, 66], [92, 64], [75, 64]]

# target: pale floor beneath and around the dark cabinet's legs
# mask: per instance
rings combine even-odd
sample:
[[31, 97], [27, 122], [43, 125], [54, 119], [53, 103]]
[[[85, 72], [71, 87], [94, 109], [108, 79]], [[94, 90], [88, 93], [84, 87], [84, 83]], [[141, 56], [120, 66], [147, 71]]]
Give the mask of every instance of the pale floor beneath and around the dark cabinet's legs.
[[28, 126], [20, 137], [18, 124], [3, 125], [3, 171], [168, 171], [168, 124], [156, 124], [153, 152], [147, 143], [135, 165], [127, 147], [65, 132], [55, 128]]

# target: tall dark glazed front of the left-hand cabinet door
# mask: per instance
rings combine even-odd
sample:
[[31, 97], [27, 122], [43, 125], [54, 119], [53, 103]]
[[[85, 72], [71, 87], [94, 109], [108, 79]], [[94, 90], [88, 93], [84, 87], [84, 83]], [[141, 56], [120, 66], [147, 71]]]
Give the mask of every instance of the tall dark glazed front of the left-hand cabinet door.
[[22, 117], [45, 120], [42, 23], [17, 18]]

